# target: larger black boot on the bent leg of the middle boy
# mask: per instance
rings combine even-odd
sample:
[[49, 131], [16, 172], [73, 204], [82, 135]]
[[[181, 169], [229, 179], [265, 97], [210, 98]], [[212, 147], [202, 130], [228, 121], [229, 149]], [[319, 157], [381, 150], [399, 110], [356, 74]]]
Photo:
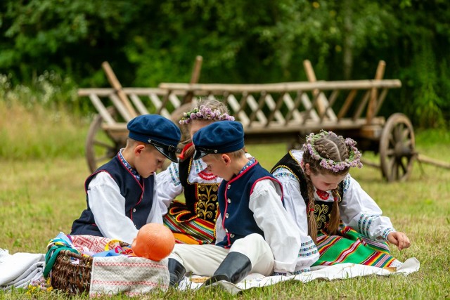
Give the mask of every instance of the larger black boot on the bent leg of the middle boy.
[[214, 272], [214, 275], [208, 278], [203, 285], [212, 285], [220, 280], [238, 283], [250, 273], [250, 270], [252, 270], [252, 262], [247, 256], [239, 252], [230, 252]]

